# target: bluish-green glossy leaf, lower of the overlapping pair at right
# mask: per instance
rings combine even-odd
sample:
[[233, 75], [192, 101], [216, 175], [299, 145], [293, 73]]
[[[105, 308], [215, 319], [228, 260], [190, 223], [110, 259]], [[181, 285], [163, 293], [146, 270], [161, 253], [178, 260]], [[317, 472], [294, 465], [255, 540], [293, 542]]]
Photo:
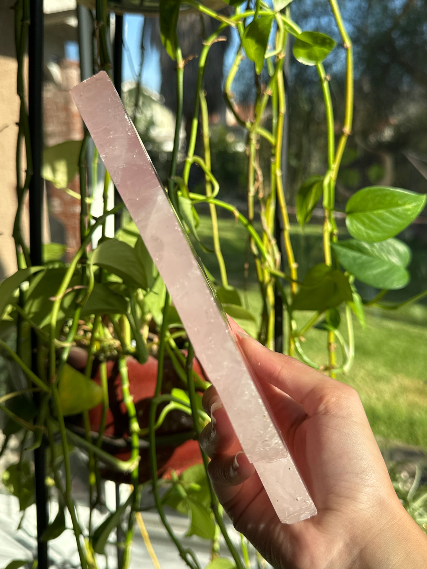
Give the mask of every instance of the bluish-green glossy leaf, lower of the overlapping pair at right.
[[338, 261], [356, 279], [376, 288], [402, 288], [410, 280], [406, 270], [411, 253], [398, 239], [367, 243], [355, 239], [333, 243]]

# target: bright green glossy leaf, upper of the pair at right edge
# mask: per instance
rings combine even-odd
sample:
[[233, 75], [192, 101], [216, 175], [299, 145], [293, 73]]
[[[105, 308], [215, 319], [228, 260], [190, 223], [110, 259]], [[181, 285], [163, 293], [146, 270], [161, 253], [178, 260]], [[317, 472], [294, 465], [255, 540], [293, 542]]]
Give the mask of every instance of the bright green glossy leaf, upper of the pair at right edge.
[[359, 189], [346, 205], [348, 233], [373, 243], [394, 237], [420, 215], [427, 196], [407, 189], [371, 186]]

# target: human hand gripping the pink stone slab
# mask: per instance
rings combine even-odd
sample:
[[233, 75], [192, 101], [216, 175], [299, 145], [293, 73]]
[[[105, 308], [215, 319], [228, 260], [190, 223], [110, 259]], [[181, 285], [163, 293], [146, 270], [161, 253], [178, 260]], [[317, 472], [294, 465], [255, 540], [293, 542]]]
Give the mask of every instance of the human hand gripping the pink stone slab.
[[211, 386], [200, 445], [236, 529], [278, 569], [427, 567], [427, 538], [396, 496], [356, 391], [232, 326], [318, 509], [279, 521]]

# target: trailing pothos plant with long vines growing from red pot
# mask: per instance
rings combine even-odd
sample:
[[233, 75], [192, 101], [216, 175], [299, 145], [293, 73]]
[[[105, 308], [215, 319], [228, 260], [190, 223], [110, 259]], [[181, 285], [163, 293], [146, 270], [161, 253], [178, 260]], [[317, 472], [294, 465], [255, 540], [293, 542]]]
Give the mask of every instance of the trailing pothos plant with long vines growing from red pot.
[[[425, 196], [391, 187], [360, 189], [346, 204], [346, 226], [351, 238], [340, 239], [335, 222], [335, 182], [352, 128], [353, 50], [338, 4], [336, 0], [329, 1], [347, 63], [344, 115], [335, 119], [329, 76], [323, 66], [323, 61], [336, 47], [335, 40], [317, 30], [301, 30], [290, 18], [289, 0], [274, 0], [272, 6], [256, 0], [249, 2], [245, 9], [241, 8], [239, 0], [228, 3], [231, 9], [225, 15], [195, 0], [186, 2], [200, 13], [218, 20], [219, 24], [216, 31], [204, 39], [199, 55], [194, 117], [186, 157], [179, 169], [186, 65], [176, 33], [180, 2], [160, 1], [163, 45], [176, 60], [178, 103], [168, 182], [170, 200], [184, 227], [196, 239], [196, 209], [199, 204], [208, 204], [214, 245], [211, 254], [216, 256], [220, 274], [220, 281], [212, 277], [212, 284], [225, 311], [240, 320], [255, 318], [259, 323], [258, 339], [274, 349], [275, 317], [277, 311], [282, 310], [275, 302], [280, 298], [286, 316], [286, 351], [310, 366], [336, 376], [348, 372], [354, 360], [354, 317], [364, 322], [363, 301], [355, 279], [380, 290], [373, 302], [378, 302], [387, 290], [408, 283], [410, 250], [395, 236], [422, 211]], [[198, 433], [208, 421], [200, 404], [201, 395], [209, 385], [208, 378], [194, 360], [186, 331], [135, 226], [128, 222], [114, 238], [105, 236], [108, 216], [122, 208], [118, 205], [107, 209], [108, 172], [105, 174], [104, 212], [98, 218], [89, 213], [88, 134], [83, 142], [66, 142], [46, 149], [43, 167], [45, 179], [80, 200], [80, 248], [72, 261], [65, 263], [60, 260], [64, 251], [61, 246], [46, 246], [43, 265], [31, 266], [28, 247], [20, 230], [32, 169], [23, 89], [29, 0], [18, 0], [15, 14], [20, 119], [14, 238], [19, 268], [0, 286], [0, 348], [3, 357], [14, 365], [6, 393], [0, 399], [0, 409], [6, 415], [3, 450], [9, 437], [15, 434], [20, 441], [20, 456], [18, 463], [10, 465], [3, 473], [3, 483], [19, 498], [24, 515], [35, 499], [34, 472], [27, 460], [28, 451], [39, 447], [43, 439], [47, 440], [48, 483], [58, 494], [59, 513], [51, 519], [43, 539], [54, 539], [64, 531], [64, 510], [68, 510], [81, 567], [96, 567], [98, 555], [105, 554], [107, 543], [117, 545], [122, 552], [121, 567], [129, 567], [135, 522], [143, 528], [140, 511], [143, 484], [149, 484], [162, 523], [189, 567], [200, 569], [199, 560], [174, 533], [165, 513], [166, 505], [188, 516], [188, 535], [196, 534], [211, 542], [210, 569], [250, 567], [248, 544], [242, 538], [237, 547], [229, 537], [223, 511], [206, 476], [207, 457], [196, 443]], [[94, 26], [97, 68], [110, 71], [106, 18], [106, 2], [100, 0], [96, 3]], [[247, 130], [246, 216], [234, 205], [221, 200], [220, 187], [211, 169], [204, 67], [210, 48], [221, 40], [221, 33], [227, 26], [235, 28], [240, 38], [225, 80], [224, 97], [236, 121]], [[324, 262], [311, 267], [302, 277], [298, 275], [298, 259], [294, 257], [290, 240], [282, 182], [283, 68], [286, 50], [290, 49], [299, 63], [317, 69], [319, 89], [325, 101], [327, 132], [325, 168], [308, 178], [297, 196], [297, 218], [301, 225], [310, 220], [313, 209], [321, 200]], [[253, 118], [249, 120], [239, 116], [232, 94], [233, 80], [243, 57], [254, 63], [257, 86]], [[261, 73], [265, 69], [267, 80], [264, 82]], [[271, 117], [270, 122], [265, 119], [267, 114]], [[338, 141], [334, 133], [336, 120], [342, 121]], [[202, 155], [195, 154], [199, 130], [203, 140]], [[260, 139], [270, 147], [269, 172], [263, 172], [261, 168]], [[24, 180], [21, 176], [22, 141], [27, 164]], [[95, 150], [94, 180], [97, 179], [97, 163]], [[190, 169], [194, 164], [202, 168], [205, 175], [203, 194], [188, 188]], [[77, 172], [80, 194], [67, 188]], [[260, 315], [249, 314], [242, 306], [240, 292], [228, 283], [227, 266], [221, 253], [218, 208], [228, 211], [247, 231], [262, 296]], [[261, 232], [254, 226], [256, 211], [259, 211]], [[281, 220], [283, 228], [283, 253], [281, 244], [274, 238], [277, 219]], [[90, 250], [93, 233], [99, 227], [101, 239]], [[420, 292], [407, 302], [425, 294]], [[301, 327], [296, 320], [299, 311], [312, 312]], [[344, 332], [342, 312], [346, 320]], [[319, 323], [327, 335], [328, 362], [323, 365], [311, 361], [301, 343], [307, 331]], [[36, 342], [32, 341], [32, 349], [38, 355], [36, 368], [31, 367], [30, 331], [36, 335]], [[336, 357], [337, 345], [342, 352], [340, 358]], [[131, 377], [130, 371], [135, 365], [140, 366], [138, 374]], [[169, 374], [166, 373], [168, 370]], [[114, 413], [117, 406], [122, 409], [120, 418]], [[187, 423], [183, 420], [185, 417]], [[120, 420], [125, 424], [119, 424]], [[180, 428], [176, 427], [177, 423]], [[188, 443], [193, 446], [186, 447]], [[79, 519], [72, 494], [70, 455], [76, 448], [85, 453], [88, 464], [90, 515], [85, 524]], [[180, 452], [184, 452], [185, 460]], [[186, 468], [189, 463], [190, 468]], [[118, 504], [114, 512], [95, 526], [92, 513], [104, 506], [101, 480], [105, 476], [125, 481], [130, 484], [131, 491], [126, 501]], [[158, 566], [149, 537], [145, 530], [142, 533], [153, 563]], [[220, 546], [221, 535], [228, 554]], [[257, 556], [255, 563], [261, 566], [262, 559]], [[18, 567], [18, 564], [14, 566]]]

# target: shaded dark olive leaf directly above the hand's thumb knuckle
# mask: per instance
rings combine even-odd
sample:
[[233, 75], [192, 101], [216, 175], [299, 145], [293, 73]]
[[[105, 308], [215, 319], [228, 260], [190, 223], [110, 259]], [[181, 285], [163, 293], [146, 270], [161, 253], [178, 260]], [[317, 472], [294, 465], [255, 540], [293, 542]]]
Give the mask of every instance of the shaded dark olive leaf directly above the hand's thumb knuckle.
[[305, 275], [294, 298], [293, 309], [323, 312], [350, 300], [351, 287], [346, 276], [337, 269], [319, 263]]

